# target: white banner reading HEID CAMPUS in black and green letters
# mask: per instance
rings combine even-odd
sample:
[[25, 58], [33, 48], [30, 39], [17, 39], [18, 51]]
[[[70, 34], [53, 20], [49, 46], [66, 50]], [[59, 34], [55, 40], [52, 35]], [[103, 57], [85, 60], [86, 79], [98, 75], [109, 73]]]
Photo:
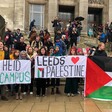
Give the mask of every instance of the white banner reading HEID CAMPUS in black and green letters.
[[30, 60], [1, 60], [0, 85], [31, 83]]

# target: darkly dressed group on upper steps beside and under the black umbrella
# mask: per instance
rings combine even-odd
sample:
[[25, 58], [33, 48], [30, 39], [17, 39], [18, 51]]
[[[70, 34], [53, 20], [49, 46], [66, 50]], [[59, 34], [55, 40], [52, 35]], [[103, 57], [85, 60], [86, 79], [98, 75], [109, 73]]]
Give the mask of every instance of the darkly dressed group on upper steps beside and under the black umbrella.
[[[52, 21], [52, 27], [54, 28], [55, 39], [60, 35], [66, 36], [66, 44], [77, 46], [77, 42], [80, 41], [80, 35], [82, 30], [82, 23], [79, 20], [68, 21], [65, 28], [61, 26], [61, 21], [58, 17]], [[70, 38], [69, 38], [70, 37]], [[69, 41], [68, 41], [69, 40]]]

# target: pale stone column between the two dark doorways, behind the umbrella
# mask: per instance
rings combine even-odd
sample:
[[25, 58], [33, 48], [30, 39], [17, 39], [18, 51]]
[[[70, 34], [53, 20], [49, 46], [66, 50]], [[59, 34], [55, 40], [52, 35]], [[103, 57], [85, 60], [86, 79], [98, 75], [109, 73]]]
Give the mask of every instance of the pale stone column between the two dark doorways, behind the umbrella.
[[87, 35], [87, 23], [88, 23], [88, 0], [79, 0], [79, 16], [84, 17], [82, 22], [83, 30], [82, 34]]

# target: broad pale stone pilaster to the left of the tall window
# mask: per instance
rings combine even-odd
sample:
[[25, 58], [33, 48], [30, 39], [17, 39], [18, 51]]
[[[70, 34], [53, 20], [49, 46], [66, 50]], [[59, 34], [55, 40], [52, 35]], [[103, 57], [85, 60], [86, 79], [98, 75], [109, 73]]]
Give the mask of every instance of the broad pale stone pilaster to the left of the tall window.
[[24, 31], [25, 0], [14, 0], [14, 29], [20, 28]]

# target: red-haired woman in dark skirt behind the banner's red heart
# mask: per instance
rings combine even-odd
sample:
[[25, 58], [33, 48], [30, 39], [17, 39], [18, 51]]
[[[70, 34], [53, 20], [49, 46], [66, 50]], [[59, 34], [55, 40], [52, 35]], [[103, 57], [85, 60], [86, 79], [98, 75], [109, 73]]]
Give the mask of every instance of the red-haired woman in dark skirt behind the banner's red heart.
[[[72, 47], [70, 49], [70, 55], [76, 55], [76, 48]], [[67, 96], [74, 96], [78, 94], [78, 78], [66, 78], [65, 90], [64, 92]]]

